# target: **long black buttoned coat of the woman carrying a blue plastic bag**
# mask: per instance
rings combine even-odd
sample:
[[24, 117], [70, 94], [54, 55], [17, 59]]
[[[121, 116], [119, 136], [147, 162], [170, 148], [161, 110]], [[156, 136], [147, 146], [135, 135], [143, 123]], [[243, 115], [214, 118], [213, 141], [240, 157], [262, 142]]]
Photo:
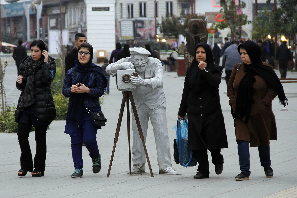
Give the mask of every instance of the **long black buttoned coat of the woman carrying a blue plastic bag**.
[[189, 83], [187, 74], [178, 111], [180, 116], [188, 114], [188, 148], [192, 151], [228, 148], [219, 97], [222, 74], [212, 74], [207, 67], [200, 72], [207, 81], [207, 87], [197, 91]]

